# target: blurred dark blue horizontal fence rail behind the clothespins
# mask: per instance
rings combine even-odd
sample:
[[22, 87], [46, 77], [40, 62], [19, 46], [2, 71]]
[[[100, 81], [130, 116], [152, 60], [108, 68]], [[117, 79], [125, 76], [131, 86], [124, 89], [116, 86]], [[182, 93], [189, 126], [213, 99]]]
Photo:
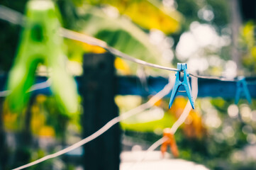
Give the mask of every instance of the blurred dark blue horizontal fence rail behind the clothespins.
[[[6, 84], [6, 75], [0, 76], [0, 91], [4, 91]], [[46, 81], [47, 77], [36, 77], [35, 84]], [[250, 91], [252, 98], [256, 98], [256, 77], [246, 77], [247, 87]], [[145, 88], [141, 83], [140, 79], [135, 76], [118, 76], [116, 79], [117, 95], [138, 95], [138, 96], [150, 96], [155, 95], [157, 92], [161, 91], [163, 87], [168, 83], [167, 77], [148, 77], [147, 83], [148, 88]], [[80, 77], [76, 77], [77, 86], [82, 86]], [[198, 97], [221, 97], [224, 99], [234, 99], [235, 91], [237, 90], [237, 83], [235, 81], [221, 81], [218, 79], [198, 79], [199, 93]], [[181, 89], [182, 90], [182, 89]], [[166, 97], [171, 96], [172, 91]], [[47, 96], [51, 95], [50, 87], [45, 89], [37, 89], [33, 91], [33, 95], [45, 94]], [[178, 96], [187, 96], [187, 94], [179, 93]], [[245, 96], [241, 96], [245, 98]]]

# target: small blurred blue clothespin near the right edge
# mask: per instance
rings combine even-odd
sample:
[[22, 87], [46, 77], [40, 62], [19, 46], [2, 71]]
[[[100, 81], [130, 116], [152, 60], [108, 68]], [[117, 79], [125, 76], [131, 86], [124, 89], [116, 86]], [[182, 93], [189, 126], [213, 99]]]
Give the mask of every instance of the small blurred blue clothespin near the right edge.
[[247, 87], [247, 83], [245, 81], [245, 77], [238, 77], [238, 81], [236, 83], [237, 89], [235, 93], [235, 104], [238, 104], [240, 94], [243, 92], [247, 101], [252, 103], [252, 98], [250, 97], [250, 92]]

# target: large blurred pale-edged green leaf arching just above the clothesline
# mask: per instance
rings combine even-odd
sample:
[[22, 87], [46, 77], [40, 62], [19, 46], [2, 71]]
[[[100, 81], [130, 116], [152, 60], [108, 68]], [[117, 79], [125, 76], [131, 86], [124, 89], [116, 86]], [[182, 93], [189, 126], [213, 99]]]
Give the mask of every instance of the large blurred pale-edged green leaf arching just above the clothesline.
[[111, 18], [99, 8], [88, 6], [84, 13], [83, 32], [148, 62], [157, 62], [160, 55], [157, 48], [150, 44], [148, 35], [128, 18]]

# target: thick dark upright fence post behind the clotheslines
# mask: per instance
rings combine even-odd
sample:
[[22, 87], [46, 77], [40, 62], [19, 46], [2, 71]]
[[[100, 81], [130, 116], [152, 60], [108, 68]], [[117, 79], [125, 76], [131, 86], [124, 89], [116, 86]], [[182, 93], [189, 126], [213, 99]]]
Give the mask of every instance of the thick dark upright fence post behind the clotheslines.
[[[79, 87], [83, 106], [83, 137], [88, 137], [118, 116], [118, 108], [114, 103], [116, 78], [113, 60], [113, 55], [109, 53], [84, 55], [84, 74]], [[118, 170], [120, 139], [121, 130], [117, 124], [84, 145], [84, 169]]]

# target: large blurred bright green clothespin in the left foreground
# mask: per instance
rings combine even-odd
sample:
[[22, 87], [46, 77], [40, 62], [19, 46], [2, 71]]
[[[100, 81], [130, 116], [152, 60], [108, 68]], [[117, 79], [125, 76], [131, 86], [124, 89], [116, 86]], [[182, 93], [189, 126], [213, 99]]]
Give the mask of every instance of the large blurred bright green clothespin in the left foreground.
[[22, 111], [30, 97], [27, 91], [34, 83], [35, 69], [43, 63], [50, 68], [51, 89], [59, 106], [65, 113], [77, 112], [77, 86], [66, 71], [57, 16], [52, 1], [29, 1], [26, 6], [26, 24], [7, 85], [11, 111]]

